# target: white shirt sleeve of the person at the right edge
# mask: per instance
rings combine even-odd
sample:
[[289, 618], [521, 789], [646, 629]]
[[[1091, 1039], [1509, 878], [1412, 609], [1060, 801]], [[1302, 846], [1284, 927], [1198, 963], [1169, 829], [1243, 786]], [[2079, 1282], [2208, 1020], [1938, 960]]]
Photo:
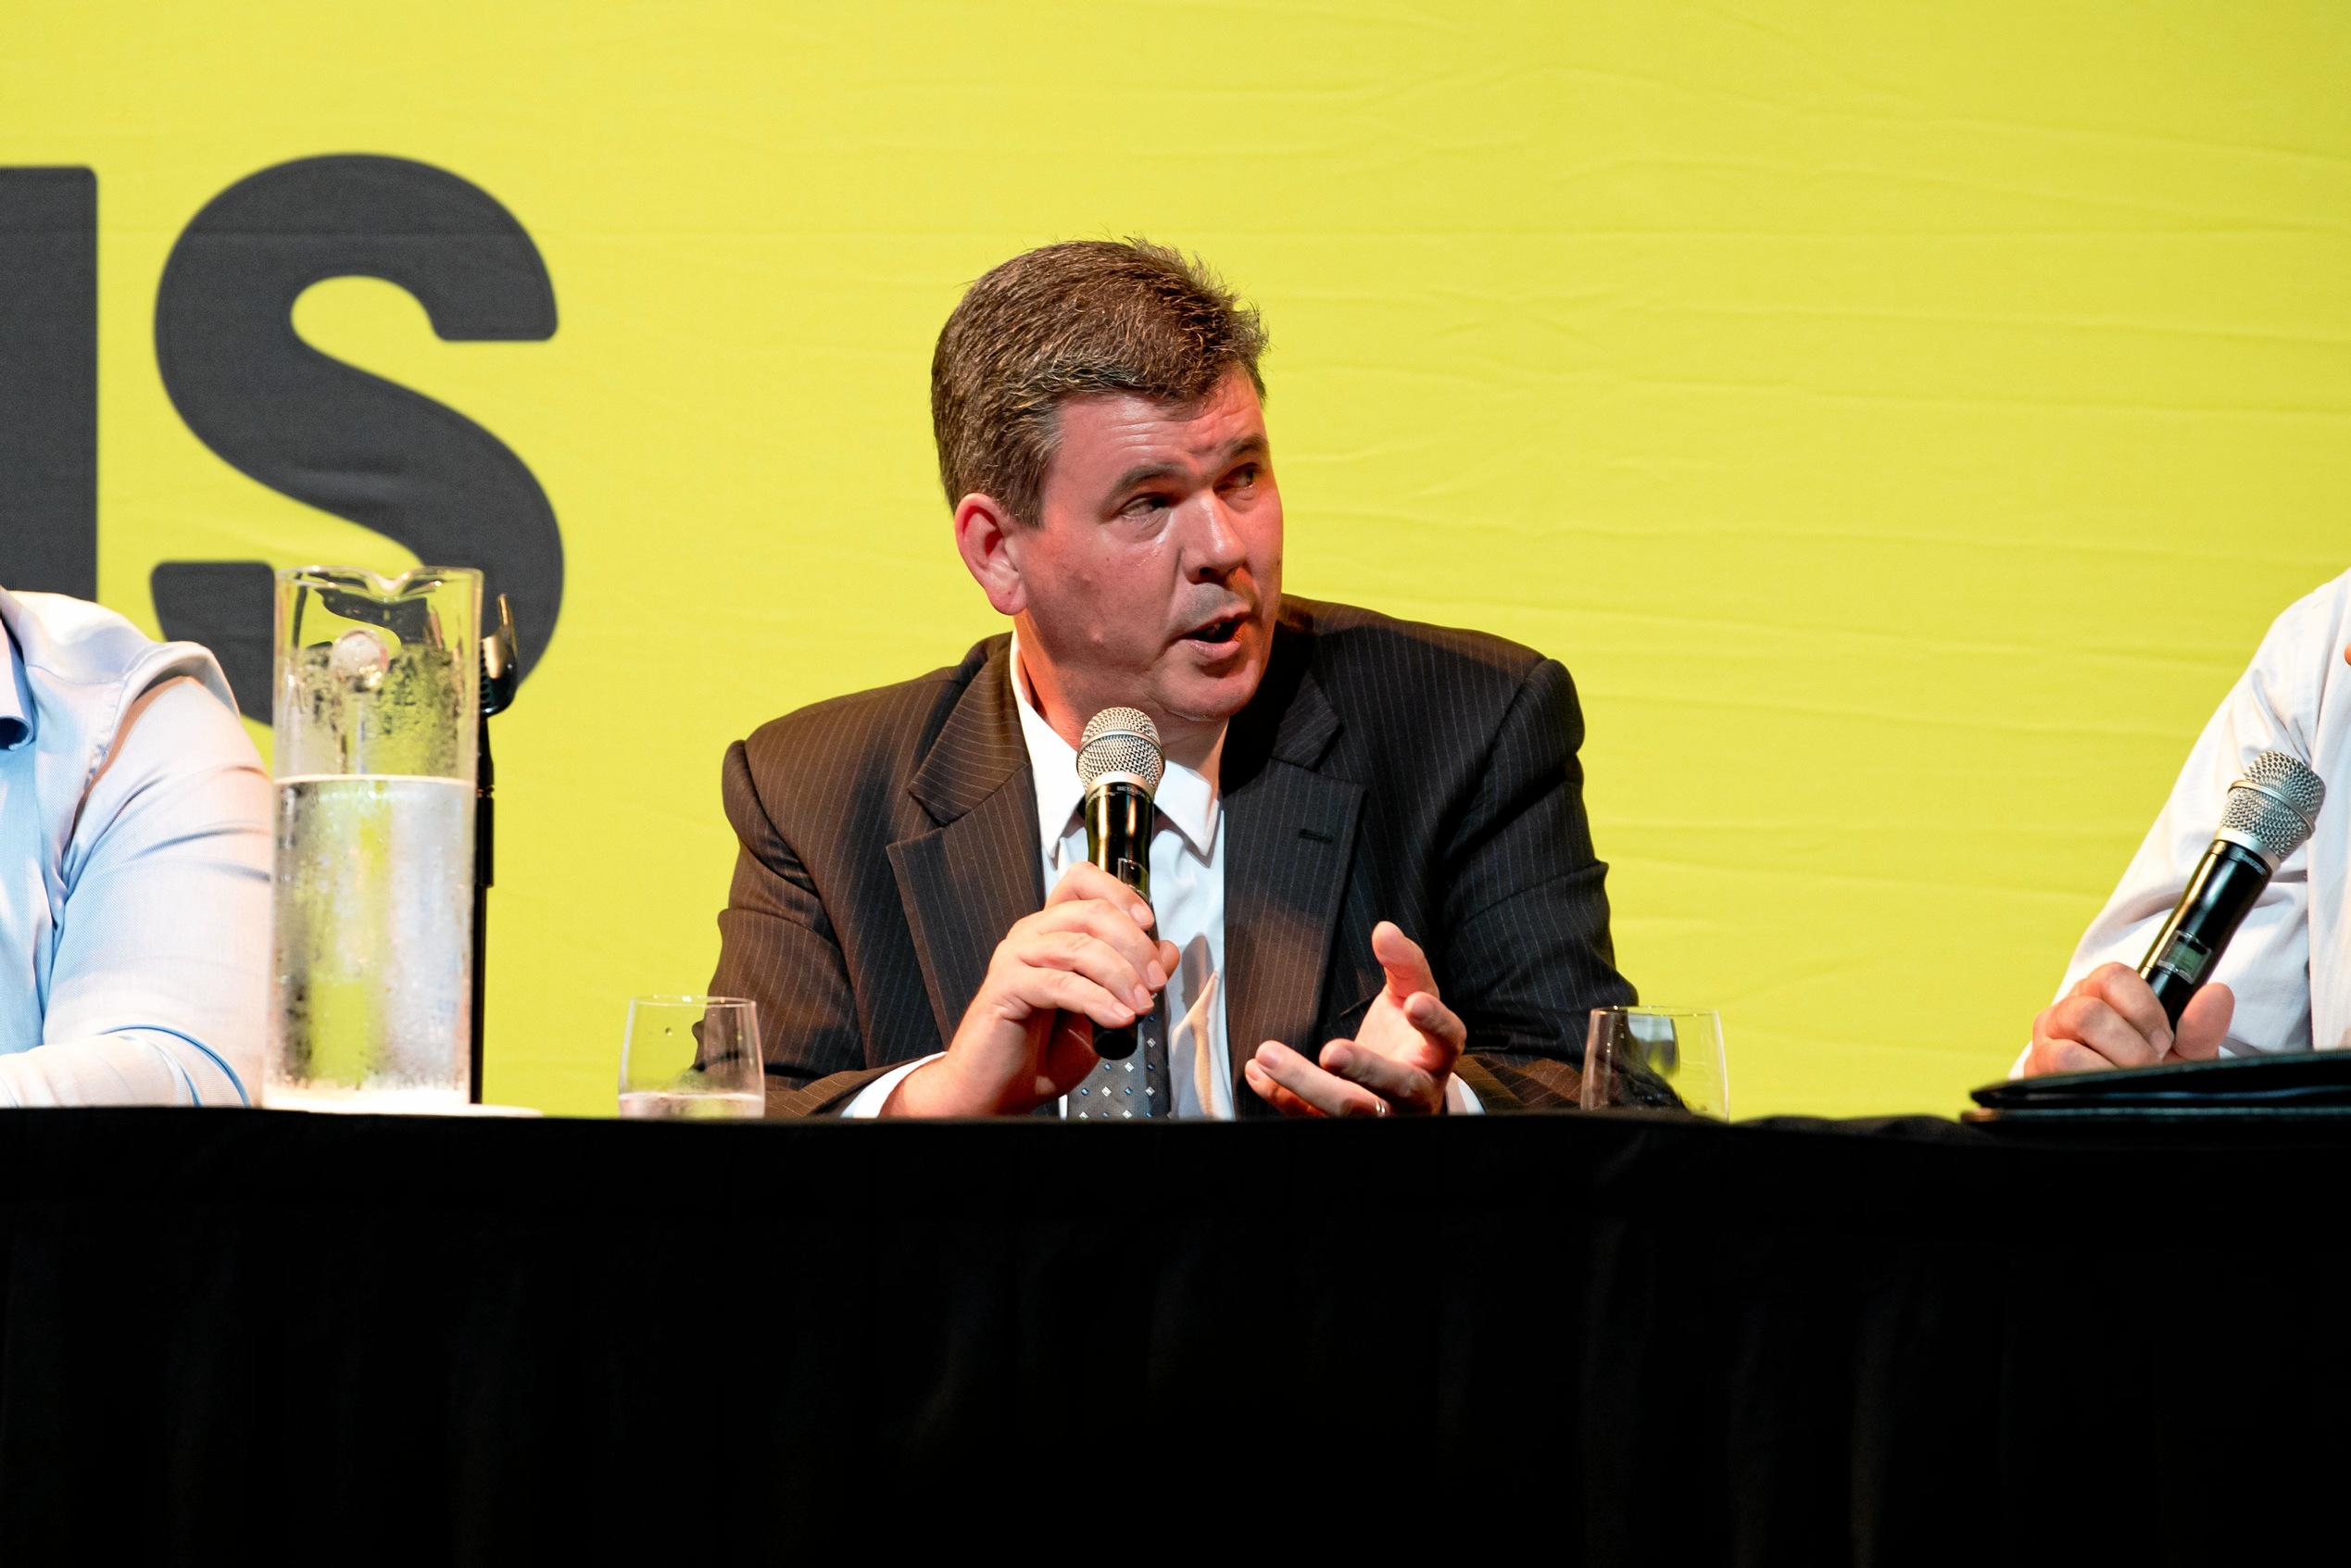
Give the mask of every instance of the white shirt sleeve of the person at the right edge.
[[[2295, 604], [2252, 656], [2219, 712], [2189, 752], [2170, 799], [2130, 858], [2123, 882], [2083, 933], [2057, 994], [2099, 964], [2146, 959], [2149, 943], [2186, 891], [2196, 863], [2219, 830], [2222, 802], [2245, 766], [2269, 750], [2313, 762], [2318, 696], [2330, 661], [2332, 599], [2311, 595]], [[2332, 783], [2332, 780], [2330, 780]], [[2236, 992], [2224, 1056], [2311, 1048], [2311, 851], [2297, 849], [2269, 879], [2245, 924], [2212, 966], [2212, 980]], [[2010, 1077], [2024, 1070], [2031, 1044]]]

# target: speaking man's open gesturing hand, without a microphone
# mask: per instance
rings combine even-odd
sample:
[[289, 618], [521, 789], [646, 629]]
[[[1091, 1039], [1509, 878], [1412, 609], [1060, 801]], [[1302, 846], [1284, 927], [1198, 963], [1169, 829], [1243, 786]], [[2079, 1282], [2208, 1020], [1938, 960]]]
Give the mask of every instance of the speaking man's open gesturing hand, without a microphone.
[[1385, 1117], [1446, 1107], [1446, 1079], [1469, 1030], [1436, 999], [1429, 957], [1394, 922], [1371, 929], [1371, 957], [1387, 971], [1387, 985], [1354, 1039], [1333, 1039], [1312, 1063], [1270, 1039], [1241, 1067], [1248, 1086], [1284, 1114]]

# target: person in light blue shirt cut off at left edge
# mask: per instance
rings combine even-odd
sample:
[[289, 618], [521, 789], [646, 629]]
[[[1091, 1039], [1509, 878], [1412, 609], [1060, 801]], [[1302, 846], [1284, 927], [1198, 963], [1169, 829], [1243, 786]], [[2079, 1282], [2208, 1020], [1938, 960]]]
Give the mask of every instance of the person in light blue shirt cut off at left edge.
[[212, 654], [0, 590], [0, 1107], [252, 1105], [270, 783]]

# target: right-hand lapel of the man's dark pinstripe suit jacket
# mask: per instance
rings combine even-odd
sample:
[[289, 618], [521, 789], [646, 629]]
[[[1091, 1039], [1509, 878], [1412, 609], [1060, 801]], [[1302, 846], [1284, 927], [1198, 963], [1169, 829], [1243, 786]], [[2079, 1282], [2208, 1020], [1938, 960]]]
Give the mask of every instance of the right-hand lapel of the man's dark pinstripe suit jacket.
[[1338, 731], [1307, 635], [1284, 623], [1225, 745], [1225, 1037], [1244, 1117], [1272, 1112], [1241, 1079], [1262, 1041], [1321, 1046], [1310, 1034], [1364, 804], [1361, 785], [1317, 771]]

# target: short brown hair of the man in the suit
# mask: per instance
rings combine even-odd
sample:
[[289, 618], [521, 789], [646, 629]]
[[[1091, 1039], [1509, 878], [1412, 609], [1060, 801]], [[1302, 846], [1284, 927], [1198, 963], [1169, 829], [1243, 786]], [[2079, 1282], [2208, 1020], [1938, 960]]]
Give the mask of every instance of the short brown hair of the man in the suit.
[[1060, 404], [1131, 393], [1194, 407], [1230, 371], [1265, 395], [1265, 327], [1199, 259], [1147, 240], [1070, 240], [980, 277], [931, 355], [947, 505], [994, 496], [1034, 524]]

